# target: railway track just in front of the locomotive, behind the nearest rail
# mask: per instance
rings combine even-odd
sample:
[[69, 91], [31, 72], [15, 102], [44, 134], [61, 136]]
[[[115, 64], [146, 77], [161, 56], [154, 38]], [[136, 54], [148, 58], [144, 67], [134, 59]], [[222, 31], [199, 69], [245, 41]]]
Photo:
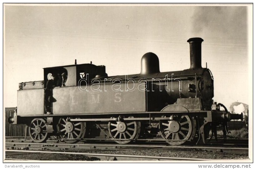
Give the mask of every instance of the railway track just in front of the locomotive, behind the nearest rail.
[[216, 146], [168, 146], [168, 145], [132, 145], [132, 144], [68, 144], [68, 143], [24, 143], [24, 142], [6, 142], [6, 149], [24, 149], [24, 150], [86, 150], [91, 149], [164, 149], [170, 151], [212, 151], [225, 153], [248, 153], [249, 148], [240, 147], [216, 147]]

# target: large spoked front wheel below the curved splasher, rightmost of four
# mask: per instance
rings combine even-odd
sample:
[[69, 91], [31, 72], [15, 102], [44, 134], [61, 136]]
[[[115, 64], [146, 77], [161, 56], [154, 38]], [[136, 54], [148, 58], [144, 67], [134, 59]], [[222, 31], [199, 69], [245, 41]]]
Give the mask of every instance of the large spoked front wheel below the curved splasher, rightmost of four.
[[[170, 116], [169, 116], [170, 117]], [[194, 134], [193, 123], [188, 115], [174, 115], [173, 120], [160, 120], [159, 130], [162, 138], [180, 141], [166, 141], [170, 145], [181, 145]]]

